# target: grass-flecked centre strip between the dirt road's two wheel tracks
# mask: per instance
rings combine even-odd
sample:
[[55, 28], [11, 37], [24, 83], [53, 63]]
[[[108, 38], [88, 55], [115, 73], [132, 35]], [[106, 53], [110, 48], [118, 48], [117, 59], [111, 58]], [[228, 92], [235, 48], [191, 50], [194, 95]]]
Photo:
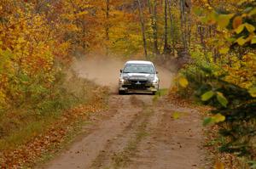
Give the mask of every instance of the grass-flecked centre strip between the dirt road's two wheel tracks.
[[[151, 100], [151, 97], [147, 95], [132, 95], [130, 97], [131, 104], [141, 108], [141, 110], [137, 112], [133, 120], [129, 122], [129, 125], [125, 127], [124, 131], [117, 138], [109, 140], [105, 149], [97, 156], [96, 161], [94, 161], [90, 168], [116, 168], [129, 162], [129, 155], [126, 155], [127, 152], [124, 153], [124, 151], [129, 150], [130, 154], [133, 153], [131, 152], [131, 147], [129, 148], [127, 145], [131, 145], [131, 141], [136, 139], [138, 130], [143, 127], [145, 122], [148, 121], [149, 115], [152, 114], [151, 110], [148, 109], [148, 103]], [[136, 149], [136, 147], [133, 149]]]

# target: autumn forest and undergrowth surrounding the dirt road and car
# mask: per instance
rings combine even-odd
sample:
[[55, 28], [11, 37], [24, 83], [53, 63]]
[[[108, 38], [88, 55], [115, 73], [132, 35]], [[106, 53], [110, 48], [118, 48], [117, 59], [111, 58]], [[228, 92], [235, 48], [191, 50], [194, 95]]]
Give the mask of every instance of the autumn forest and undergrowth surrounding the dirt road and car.
[[[43, 153], [30, 149], [59, 144], [76, 115], [107, 109], [108, 89], [67, 73], [96, 55], [172, 70], [169, 93], [210, 106], [210, 146], [232, 156], [212, 166], [256, 168], [255, 33], [254, 0], [1, 0], [0, 166], [34, 163]], [[56, 140], [41, 143], [49, 131]]]

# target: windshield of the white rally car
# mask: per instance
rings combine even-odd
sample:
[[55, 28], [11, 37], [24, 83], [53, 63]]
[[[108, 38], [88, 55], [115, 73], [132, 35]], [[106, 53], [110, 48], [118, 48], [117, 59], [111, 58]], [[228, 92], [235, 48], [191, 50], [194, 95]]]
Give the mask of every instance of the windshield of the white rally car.
[[154, 67], [148, 64], [127, 64], [125, 65], [124, 73], [154, 74]]

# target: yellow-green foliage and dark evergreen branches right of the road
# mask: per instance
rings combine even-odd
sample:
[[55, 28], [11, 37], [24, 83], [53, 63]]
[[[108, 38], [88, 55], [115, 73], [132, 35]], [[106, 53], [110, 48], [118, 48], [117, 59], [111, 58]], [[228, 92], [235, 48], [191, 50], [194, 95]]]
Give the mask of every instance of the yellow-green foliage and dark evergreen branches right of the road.
[[179, 79], [184, 80], [179, 86], [186, 89], [180, 93], [212, 105], [215, 109], [204, 125], [218, 124], [219, 150], [245, 157], [245, 163], [254, 167], [256, 3], [226, 4], [209, 1], [204, 9], [194, 8], [200, 31], [205, 32], [201, 44], [195, 43], [190, 51], [194, 63], [181, 70]]

